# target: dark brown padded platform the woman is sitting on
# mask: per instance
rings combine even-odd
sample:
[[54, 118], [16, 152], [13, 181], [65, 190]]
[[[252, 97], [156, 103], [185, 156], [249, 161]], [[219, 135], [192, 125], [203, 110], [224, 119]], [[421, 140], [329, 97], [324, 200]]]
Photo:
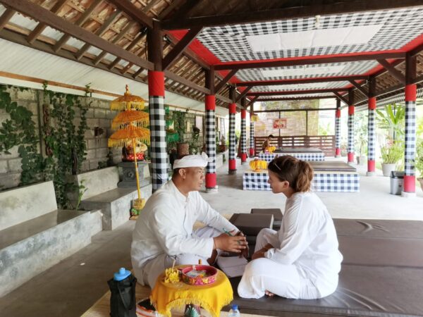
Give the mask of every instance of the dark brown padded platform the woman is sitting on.
[[236, 291], [240, 278], [234, 278], [233, 304], [264, 316], [423, 316], [423, 222], [334, 223], [344, 256], [335, 293], [315, 300], [243, 299]]

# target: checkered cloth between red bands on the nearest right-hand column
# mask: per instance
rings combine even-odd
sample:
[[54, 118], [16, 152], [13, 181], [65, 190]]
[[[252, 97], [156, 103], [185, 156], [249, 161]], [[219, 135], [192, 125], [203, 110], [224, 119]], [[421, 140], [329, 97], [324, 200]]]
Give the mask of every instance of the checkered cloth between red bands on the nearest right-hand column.
[[405, 101], [405, 175], [415, 175], [416, 102]]

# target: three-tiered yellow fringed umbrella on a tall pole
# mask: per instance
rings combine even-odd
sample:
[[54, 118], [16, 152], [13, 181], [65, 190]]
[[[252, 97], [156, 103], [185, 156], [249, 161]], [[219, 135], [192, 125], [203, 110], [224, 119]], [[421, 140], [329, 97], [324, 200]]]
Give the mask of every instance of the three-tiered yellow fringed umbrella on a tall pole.
[[141, 198], [140, 177], [138, 175], [137, 164], [137, 147], [136, 141], [149, 144], [150, 132], [147, 128], [139, 125], [147, 126], [149, 123], [149, 115], [143, 111], [136, 111], [132, 108], [144, 108], [144, 99], [129, 93], [128, 85], [123, 97], [119, 97], [111, 102], [112, 110], [125, 110], [114, 118], [112, 128], [120, 129], [109, 137], [109, 147], [123, 147], [125, 144], [132, 142], [134, 151], [135, 177], [137, 179], [138, 199], [134, 201], [134, 208], [138, 211], [144, 208], [145, 199]]

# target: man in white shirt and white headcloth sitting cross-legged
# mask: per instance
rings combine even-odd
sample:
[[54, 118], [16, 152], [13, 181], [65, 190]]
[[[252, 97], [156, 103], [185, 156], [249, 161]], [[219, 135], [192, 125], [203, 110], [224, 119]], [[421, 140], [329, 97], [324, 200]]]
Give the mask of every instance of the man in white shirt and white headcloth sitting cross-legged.
[[[172, 179], [145, 204], [131, 245], [134, 274], [142, 285], [154, 287], [174, 260], [176, 265], [197, 264], [199, 259], [212, 263], [217, 249], [238, 253], [247, 249], [242, 233], [198, 192], [207, 163], [206, 154], [176, 160]], [[206, 226], [193, 232], [196, 220]]]

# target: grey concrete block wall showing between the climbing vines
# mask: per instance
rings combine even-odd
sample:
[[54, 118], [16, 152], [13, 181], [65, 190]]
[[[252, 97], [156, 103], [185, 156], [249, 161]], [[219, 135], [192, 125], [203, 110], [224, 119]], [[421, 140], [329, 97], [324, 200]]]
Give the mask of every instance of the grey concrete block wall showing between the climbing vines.
[[[41, 141], [41, 129], [43, 113], [42, 101], [44, 92], [39, 89], [20, 89], [18, 87], [8, 87], [7, 92], [11, 94], [12, 101], [16, 101], [19, 106], [25, 106], [34, 116], [37, 133], [40, 135], [39, 151], [44, 152], [44, 141]], [[106, 166], [108, 161], [118, 163], [121, 161], [121, 149], [112, 149], [107, 147], [107, 139], [111, 135], [111, 120], [116, 116], [116, 111], [109, 110], [109, 101], [90, 97], [78, 97], [84, 106], [88, 106], [86, 114], [88, 130], [85, 132], [85, 141], [87, 142], [86, 160], [82, 162], [82, 170], [93, 170]], [[80, 112], [75, 108], [75, 125], [79, 125]], [[0, 109], [0, 125], [7, 118], [10, 118], [4, 109]], [[94, 129], [96, 128], [97, 129]], [[102, 132], [97, 133], [95, 132]], [[40, 148], [42, 150], [40, 150]], [[0, 190], [17, 187], [20, 182], [20, 157], [18, 146], [9, 150], [11, 154], [0, 154]], [[109, 153], [110, 152], [110, 153]]]

